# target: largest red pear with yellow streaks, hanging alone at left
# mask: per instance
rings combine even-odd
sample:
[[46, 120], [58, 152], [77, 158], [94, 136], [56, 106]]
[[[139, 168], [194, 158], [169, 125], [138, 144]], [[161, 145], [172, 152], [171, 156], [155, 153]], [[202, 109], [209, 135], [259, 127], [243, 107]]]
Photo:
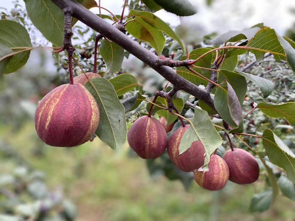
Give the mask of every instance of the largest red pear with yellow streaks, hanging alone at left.
[[38, 104], [35, 127], [46, 144], [73, 147], [87, 142], [99, 124], [99, 107], [82, 84], [63, 84]]

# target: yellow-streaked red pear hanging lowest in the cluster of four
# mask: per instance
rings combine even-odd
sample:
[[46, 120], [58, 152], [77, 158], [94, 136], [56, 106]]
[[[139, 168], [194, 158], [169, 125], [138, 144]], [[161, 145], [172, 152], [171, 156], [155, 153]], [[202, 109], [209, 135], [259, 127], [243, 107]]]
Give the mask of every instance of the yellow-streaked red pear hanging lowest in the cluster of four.
[[194, 178], [197, 184], [204, 189], [222, 189], [230, 177], [227, 163], [218, 155], [213, 154], [209, 162], [209, 171], [194, 170]]

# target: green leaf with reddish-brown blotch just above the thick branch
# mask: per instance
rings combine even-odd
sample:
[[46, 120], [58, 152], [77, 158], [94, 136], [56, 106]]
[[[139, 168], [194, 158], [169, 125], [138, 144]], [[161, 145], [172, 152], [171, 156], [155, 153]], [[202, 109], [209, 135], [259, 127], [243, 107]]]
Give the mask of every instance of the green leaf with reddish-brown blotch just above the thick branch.
[[149, 42], [158, 55], [162, 54], [166, 42], [162, 31], [157, 30], [140, 17], [135, 17], [134, 21], [128, 22], [126, 30], [134, 37]]

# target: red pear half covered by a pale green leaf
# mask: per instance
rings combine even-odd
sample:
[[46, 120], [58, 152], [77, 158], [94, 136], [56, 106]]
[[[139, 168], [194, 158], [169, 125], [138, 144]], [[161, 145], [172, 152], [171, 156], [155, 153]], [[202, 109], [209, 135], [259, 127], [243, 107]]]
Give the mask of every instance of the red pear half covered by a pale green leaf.
[[181, 155], [178, 155], [178, 148], [180, 145], [181, 138], [184, 132], [186, 132], [189, 129], [189, 127], [190, 125], [178, 128], [169, 137], [167, 145], [167, 151], [170, 159], [179, 169], [185, 172], [191, 172], [195, 169], [199, 169], [201, 166], [204, 165], [205, 159], [205, 149], [200, 140], [194, 141], [189, 149], [187, 149]]

